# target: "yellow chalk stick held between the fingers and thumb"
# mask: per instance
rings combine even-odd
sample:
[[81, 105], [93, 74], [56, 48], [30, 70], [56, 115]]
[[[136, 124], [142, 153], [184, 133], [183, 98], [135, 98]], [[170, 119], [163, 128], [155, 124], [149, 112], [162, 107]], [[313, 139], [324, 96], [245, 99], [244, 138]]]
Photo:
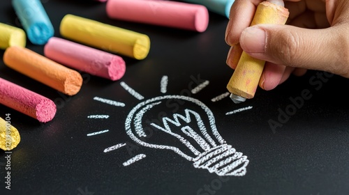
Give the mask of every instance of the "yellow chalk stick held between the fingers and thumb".
[[[255, 24], [285, 24], [288, 19], [288, 9], [273, 3], [263, 1], [257, 7], [251, 26]], [[265, 61], [255, 59], [242, 52], [237, 68], [235, 68], [228, 91], [241, 98], [251, 99], [255, 95]]]

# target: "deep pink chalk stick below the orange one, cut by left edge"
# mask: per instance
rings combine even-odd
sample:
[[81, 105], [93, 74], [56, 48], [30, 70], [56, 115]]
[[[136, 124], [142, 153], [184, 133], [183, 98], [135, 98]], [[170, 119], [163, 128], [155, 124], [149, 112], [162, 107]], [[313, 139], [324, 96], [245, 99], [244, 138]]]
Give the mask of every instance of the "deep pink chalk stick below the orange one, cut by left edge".
[[57, 111], [52, 100], [1, 78], [0, 104], [36, 118], [42, 123], [52, 120]]

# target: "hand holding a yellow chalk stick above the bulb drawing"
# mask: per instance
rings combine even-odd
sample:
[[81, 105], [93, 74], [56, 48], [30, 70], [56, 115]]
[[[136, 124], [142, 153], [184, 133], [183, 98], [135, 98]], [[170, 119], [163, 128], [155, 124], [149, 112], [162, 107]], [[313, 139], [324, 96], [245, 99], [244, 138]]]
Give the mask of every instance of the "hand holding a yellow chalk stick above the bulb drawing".
[[[271, 90], [290, 74], [323, 70], [349, 78], [349, 1], [289, 0], [288, 25], [248, 27], [262, 0], [236, 0], [230, 10], [225, 41], [232, 46], [227, 63], [235, 69], [239, 47], [266, 61], [260, 87]], [[240, 51], [241, 52], [241, 51]], [[235, 60], [234, 60], [235, 59]]]

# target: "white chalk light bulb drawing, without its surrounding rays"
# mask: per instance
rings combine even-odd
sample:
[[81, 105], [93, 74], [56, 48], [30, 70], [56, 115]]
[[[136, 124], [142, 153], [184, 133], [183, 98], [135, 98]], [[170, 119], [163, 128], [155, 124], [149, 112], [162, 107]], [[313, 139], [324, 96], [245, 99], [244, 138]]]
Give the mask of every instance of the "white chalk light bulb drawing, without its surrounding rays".
[[[186, 107], [172, 109], [173, 102]], [[153, 123], [154, 118], [160, 118], [158, 124]], [[193, 162], [197, 169], [207, 169], [218, 176], [246, 174], [247, 156], [225, 142], [212, 111], [195, 98], [163, 95], [140, 102], [126, 117], [125, 130], [139, 145], [172, 150]], [[147, 134], [149, 130], [154, 132]]]

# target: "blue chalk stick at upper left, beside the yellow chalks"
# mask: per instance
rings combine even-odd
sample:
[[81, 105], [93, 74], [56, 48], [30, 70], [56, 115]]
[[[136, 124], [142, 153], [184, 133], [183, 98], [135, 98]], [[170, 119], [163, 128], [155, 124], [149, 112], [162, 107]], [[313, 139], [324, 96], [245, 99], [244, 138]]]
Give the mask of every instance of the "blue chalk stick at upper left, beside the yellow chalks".
[[54, 36], [54, 28], [40, 0], [13, 0], [12, 5], [31, 43], [45, 45]]

